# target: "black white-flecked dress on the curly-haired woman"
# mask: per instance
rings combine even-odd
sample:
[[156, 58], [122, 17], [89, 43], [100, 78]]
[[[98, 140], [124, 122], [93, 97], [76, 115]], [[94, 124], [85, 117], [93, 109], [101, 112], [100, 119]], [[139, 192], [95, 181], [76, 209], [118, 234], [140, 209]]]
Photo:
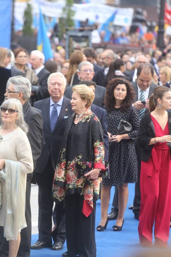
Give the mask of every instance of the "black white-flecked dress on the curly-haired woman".
[[110, 178], [103, 179], [105, 186], [122, 186], [124, 183], [137, 182], [137, 155], [133, 139], [137, 138], [139, 114], [134, 107], [121, 112], [121, 108], [107, 112], [108, 132], [116, 135], [121, 119], [132, 124], [133, 131], [128, 133], [131, 139], [123, 139], [119, 143], [109, 143]]

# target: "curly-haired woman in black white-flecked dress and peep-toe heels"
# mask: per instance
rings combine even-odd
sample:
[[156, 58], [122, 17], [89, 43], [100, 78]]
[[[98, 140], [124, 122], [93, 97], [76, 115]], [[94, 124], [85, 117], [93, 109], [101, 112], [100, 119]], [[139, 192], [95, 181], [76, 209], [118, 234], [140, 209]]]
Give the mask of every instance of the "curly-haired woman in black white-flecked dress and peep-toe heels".
[[[107, 209], [110, 200], [111, 186], [118, 186], [119, 214], [114, 231], [121, 231], [123, 215], [128, 200], [128, 183], [137, 181], [137, 156], [133, 139], [137, 138], [139, 114], [132, 104], [135, 92], [129, 81], [112, 79], [107, 85], [105, 109], [107, 112], [109, 134], [109, 170], [110, 178], [103, 179], [101, 191], [101, 221], [97, 231], [107, 226]], [[133, 131], [117, 135], [117, 127], [121, 119], [131, 123]]]

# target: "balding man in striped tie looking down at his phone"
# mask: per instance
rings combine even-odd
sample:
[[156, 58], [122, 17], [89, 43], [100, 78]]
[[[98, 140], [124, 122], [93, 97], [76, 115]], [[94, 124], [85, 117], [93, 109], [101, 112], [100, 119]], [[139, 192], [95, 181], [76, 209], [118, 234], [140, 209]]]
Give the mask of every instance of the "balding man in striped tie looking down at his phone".
[[[132, 82], [132, 86], [135, 90], [135, 103], [133, 104], [135, 108], [139, 111], [140, 119], [143, 117], [145, 113], [148, 112], [149, 106], [149, 98], [153, 94], [154, 89], [158, 86], [152, 82], [152, 77], [154, 75], [154, 68], [151, 64], [144, 63], [139, 65], [137, 69], [137, 81]], [[142, 103], [142, 101], [144, 103]], [[140, 193], [140, 171], [141, 171], [141, 153], [140, 147], [135, 141], [135, 148], [137, 154], [138, 161], [138, 182], [135, 183], [135, 197], [134, 204], [129, 207], [129, 209], [133, 209], [134, 218], [139, 219], [140, 212], [140, 204], [141, 204], [141, 193]], [[118, 214], [118, 192], [117, 188], [115, 188], [115, 195], [112, 203], [111, 213], [107, 215], [109, 220], [114, 220], [117, 218]]]

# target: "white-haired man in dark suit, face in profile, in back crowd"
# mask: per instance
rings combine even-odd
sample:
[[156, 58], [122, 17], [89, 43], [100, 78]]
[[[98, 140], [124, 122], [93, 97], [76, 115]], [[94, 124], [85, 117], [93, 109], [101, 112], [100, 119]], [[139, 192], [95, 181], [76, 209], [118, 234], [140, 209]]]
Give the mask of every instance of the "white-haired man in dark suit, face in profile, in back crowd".
[[[43, 99], [49, 97], [47, 80], [50, 75], [50, 72], [46, 70], [43, 65], [44, 60], [45, 60], [45, 57], [41, 51], [34, 50], [30, 53], [30, 63], [38, 77]], [[34, 94], [35, 94], [34, 92], [31, 93], [31, 95], [34, 95]]]

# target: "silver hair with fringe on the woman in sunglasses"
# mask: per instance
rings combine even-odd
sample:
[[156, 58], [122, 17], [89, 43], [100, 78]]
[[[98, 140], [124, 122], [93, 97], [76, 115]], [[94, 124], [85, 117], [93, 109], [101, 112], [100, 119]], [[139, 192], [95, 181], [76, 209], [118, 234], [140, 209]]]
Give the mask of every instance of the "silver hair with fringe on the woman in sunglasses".
[[[26, 134], [28, 132], [28, 125], [25, 123], [24, 115], [23, 115], [23, 107], [21, 102], [18, 99], [15, 98], [9, 98], [5, 100], [1, 107], [5, 107], [7, 109], [14, 109], [16, 111], [19, 111], [18, 114], [18, 120], [15, 123], [17, 127], [21, 128]], [[0, 125], [4, 126], [4, 123], [1, 119], [1, 109], [0, 109]]]

